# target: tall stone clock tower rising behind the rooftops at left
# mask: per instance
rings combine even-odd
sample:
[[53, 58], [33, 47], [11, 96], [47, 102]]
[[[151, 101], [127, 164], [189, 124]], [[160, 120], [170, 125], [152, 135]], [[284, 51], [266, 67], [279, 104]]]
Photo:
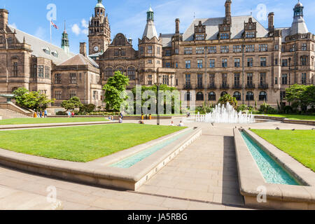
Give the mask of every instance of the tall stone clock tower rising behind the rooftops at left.
[[94, 15], [89, 22], [88, 38], [89, 55], [105, 52], [111, 43], [111, 27], [102, 0], [97, 0], [94, 8]]

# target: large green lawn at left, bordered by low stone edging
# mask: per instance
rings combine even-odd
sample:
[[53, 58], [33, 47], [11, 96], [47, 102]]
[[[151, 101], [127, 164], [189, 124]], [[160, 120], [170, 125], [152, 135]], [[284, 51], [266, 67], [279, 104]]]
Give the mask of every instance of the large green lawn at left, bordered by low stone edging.
[[3, 131], [0, 148], [45, 158], [89, 162], [184, 128], [113, 124]]

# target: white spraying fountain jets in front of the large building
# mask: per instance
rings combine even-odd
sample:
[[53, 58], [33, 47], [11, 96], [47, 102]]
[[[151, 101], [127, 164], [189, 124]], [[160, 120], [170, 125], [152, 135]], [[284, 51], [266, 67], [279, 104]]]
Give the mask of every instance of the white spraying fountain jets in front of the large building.
[[196, 121], [204, 123], [251, 124], [255, 123], [255, 118], [252, 113], [237, 113], [230, 104], [226, 106], [218, 104], [212, 113], [200, 115], [198, 112]]

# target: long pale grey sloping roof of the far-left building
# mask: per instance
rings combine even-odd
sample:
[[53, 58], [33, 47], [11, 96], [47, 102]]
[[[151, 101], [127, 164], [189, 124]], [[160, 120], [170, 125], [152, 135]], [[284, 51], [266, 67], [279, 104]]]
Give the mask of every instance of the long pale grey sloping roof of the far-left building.
[[[70, 57], [73, 57], [73, 53], [69, 52], [69, 55], [64, 52], [62, 48], [57, 47], [56, 45], [53, 45], [51, 43], [48, 43], [46, 41], [41, 40], [40, 38], [37, 38], [36, 36], [32, 36], [31, 34], [27, 34], [24, 31], [20, 31], [20, 29], [15, 29], [14, 27], [8, 25], [8, 28], [10, 31], [16, 32], [16, 38], [18, 38], [18, 41], [20, 43], [23, 43], [23, 39], [25, 38], [25, 43], [31, 45], [31, 54], [36, 57], [43, 57], [47, 59], [51, 59], [52, 62], [55, 64], [59, 64], [61, 62], [64, 62], [66, 59], [69, 59]], [[50, 54], [45, 53], [43, 49], [50, 50]], [[52, 52], [57, 52], [58, 57], [55, 57], [52, 55]]]

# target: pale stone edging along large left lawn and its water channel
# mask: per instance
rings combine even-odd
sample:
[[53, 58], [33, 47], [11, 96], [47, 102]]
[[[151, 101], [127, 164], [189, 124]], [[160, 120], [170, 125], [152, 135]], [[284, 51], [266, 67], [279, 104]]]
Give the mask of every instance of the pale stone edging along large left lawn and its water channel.
[[[190, 129], [192, 128], [169, 134], [160, 139], [155, 139], [155, 144]], [[187, 136], [181, 137], [129, 169], [109, 167], [108, 164], [104, 164], [102, 160], [100, 160], [101, 162], [92, 161], [86, 163], [69, 162], [15, 153], [1, 148], [0, 164], [35, 174], [43, 174], [66, 181], [86, 183], [92, 186], [137, 190], [160, 171], [160, 169], [165, 167], [168, 162], [173, 160], [176, 155], [201, 136], [201, 128], [192, 130], [193, 132], [190, 132]], [[141, 147], [141, 145], [139, 147]]]

